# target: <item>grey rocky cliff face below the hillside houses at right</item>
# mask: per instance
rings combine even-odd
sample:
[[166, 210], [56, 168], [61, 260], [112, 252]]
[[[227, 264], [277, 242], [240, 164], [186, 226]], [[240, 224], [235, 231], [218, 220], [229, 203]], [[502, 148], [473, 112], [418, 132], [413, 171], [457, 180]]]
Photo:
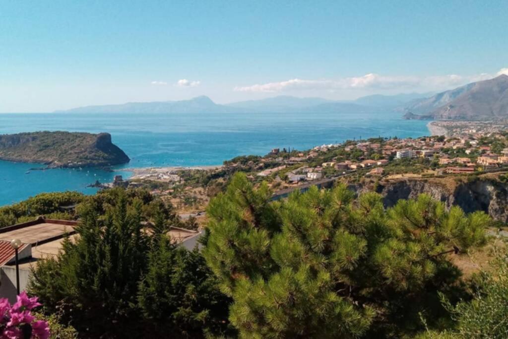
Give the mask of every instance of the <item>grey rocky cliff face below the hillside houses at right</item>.
[[[362, 184], [352, 185], [358, 194], [369, 190]], [[376, 192], [384, 196], [384, 204], [391, 207], [399, 199], [416, 198], [425, 193], [442, 201], [448, 208], [460, 206], [465, 212], [484, 211], [492, 218], [508, 222], [508, 185], [494, 179], [476, 178], [447, 187], [439, 181], [400, 180], [379, 183]]]

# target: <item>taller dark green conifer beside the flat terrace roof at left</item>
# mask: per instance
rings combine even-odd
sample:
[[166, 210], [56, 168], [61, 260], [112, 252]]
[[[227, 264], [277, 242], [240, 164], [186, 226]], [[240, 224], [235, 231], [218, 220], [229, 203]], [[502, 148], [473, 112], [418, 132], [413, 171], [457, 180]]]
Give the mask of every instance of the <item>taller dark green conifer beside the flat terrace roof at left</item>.
[[78, 237], [67, 240], [56, 260], [33, 271], [30, 290], [48, 307], [89, 335], [130, 336], [137, 318], [138, 283], [146, 268], [148, 239], [141, 203], [120, 194], [103, 220], [91, 206], [82, 209]]

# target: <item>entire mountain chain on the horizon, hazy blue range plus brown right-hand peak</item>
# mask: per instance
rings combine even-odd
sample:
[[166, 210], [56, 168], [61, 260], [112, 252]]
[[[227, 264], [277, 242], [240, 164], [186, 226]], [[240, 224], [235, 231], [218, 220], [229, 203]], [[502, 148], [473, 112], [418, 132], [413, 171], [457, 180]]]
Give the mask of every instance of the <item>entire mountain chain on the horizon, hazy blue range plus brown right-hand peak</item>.
[[508, 76], [469, 83], [438, 94], [372, 95], [353, 101], [278, 96], [220, 105], [201, 96], [182, 101], [86, 106], [75, 113], [376, 113], [405, 112], [408, 119], [490, 120], [508, 117]]

